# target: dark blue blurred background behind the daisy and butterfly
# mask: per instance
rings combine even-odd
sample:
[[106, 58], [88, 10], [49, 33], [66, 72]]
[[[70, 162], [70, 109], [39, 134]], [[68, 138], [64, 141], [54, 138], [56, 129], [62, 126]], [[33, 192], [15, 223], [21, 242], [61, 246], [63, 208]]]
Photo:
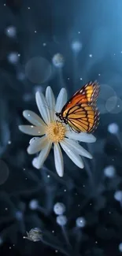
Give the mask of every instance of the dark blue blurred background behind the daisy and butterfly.
[[[73, 247], [69, 255], [120, 255], [122, 212], [114, 193], [122, 185], [121, 10], [121, 0], [0, 2], [0, 154], [9, 168], [8, 179], [0, 187], [1, 255], [63, 255], [59, 250], [55, 252], [57, 248], [52, 234], [55, 230], [61, 249], [66, 249], [61, 228], [56, 224], [55, 202], [64, 202], [67, 209], [67, 232]], [[6, 34], [9, 26], [17, 30], [13, 38]], [[78, 54], [72, 50], [75, 41], [82, 44]], [[19, 54], [15, 64], [8, 61], [13, 52]], [[57, 53], [65, 60], [60, 70], [52, 64]], [[35, 73], [29, 69], [28, 75], [28, 61], [35, 57]], [[40, 57], [48, 61], [47, 65], [42, 59], [40, 61]], [[35, 104], [37, 87], [45, 92], [46, 86], [50, 85], [56, 96], [61, 87], [66, 87], [70, 97], [89, 80], [98, 80], [101, 86], [98, 99], [101, 122], [94, 133], [97, 142], [89, 149], [94, 160], [88, 160], [88, 166], [80, 170], [64, 154], [65, 175], [59, 178], [51, 152], [46, 161], [47, 169], [34, 169], [31, 165], [33, 156], [26, 151], [31, 137], [22, 134], [18, 125], [27, 124], [22, 117], [24, 109], [39, 113]], [[107, 108], [109, 98], [112, 107]], [[111, 123], [119, 125], [119, 140], [108, 132]], [[107, 165], [116, 168], [116, 176], [112, 179], [104, 176]], [[86, 169], [94, 173], [92, 187]], [[0, 170], [0, 180], [4, 176], [6, 169]], [[47, 216], [39, 210], [29, 209], [32, 198], [39, 200]], [[17, 221], [17, 211], [23, 213], [21, 221]], [[77, 254], [78, 231], [76, 234], [73, 231], [79, 216], [87, 219], [87, 225], [83, 228]], [[33, 243], [23, 239], [25, 232], [36, 226], [43, 230], [44, 239], [50, 240], [50, 247], [41, 241]]]

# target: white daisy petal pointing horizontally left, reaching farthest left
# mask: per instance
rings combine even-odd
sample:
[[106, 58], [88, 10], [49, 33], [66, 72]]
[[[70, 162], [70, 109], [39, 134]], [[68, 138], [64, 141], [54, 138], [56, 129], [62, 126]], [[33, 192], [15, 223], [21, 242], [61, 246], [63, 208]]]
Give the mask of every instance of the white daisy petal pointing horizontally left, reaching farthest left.
[[39, 136], [45, 134], [44, 126], [35, 127], [33, 125], [19, 125], [19, 129], [21, 132], [24, 132], [28, 135]]

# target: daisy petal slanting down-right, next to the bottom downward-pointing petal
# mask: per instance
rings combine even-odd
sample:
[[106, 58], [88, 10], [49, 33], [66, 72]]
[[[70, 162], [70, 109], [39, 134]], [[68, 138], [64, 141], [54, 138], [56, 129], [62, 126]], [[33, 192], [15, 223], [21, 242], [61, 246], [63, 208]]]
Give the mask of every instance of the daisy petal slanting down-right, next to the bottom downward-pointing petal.
[[68, 158], [70, 158], [79, 168], [83, 168], [83, 160], [79, 157], [79, 155], [70, 150], [70, 147], [68, 147], [68, 144], [65, 143], [65, 141], [62, 141], [60, 144], [65, 153], [68, 155]]

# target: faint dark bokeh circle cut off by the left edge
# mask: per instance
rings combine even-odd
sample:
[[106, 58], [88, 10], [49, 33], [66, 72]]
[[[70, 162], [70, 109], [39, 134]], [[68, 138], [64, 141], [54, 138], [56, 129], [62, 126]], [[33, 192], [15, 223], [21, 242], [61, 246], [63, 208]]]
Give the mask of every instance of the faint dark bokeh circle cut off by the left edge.
[[4, 184], [9, 177], [9, 168], [5, 161], [0, 159], [0, 185]]

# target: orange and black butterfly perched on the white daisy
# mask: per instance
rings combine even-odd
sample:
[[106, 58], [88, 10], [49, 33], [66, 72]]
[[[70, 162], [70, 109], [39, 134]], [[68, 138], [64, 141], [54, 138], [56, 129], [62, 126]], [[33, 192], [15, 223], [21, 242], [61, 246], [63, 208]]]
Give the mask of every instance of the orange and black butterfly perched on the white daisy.
[[85, 84], [76, 91], [56, 116], [68, 124], [75, 132], [94, 132], [99, 124], [99, 112], [96, 106], [99, 85], [95, 82]]

